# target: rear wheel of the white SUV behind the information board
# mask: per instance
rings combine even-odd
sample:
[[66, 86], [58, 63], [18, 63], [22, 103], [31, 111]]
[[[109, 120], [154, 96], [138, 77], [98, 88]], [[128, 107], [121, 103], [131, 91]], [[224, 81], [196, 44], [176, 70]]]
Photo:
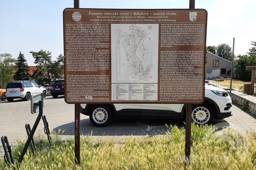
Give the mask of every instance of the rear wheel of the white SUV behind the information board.
[[97, 127], [105, 127], [113, 120], [113, 111], [108, 106], [96, 105], [89, 111], [92, 124]]

